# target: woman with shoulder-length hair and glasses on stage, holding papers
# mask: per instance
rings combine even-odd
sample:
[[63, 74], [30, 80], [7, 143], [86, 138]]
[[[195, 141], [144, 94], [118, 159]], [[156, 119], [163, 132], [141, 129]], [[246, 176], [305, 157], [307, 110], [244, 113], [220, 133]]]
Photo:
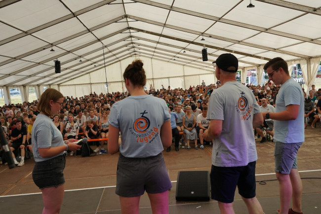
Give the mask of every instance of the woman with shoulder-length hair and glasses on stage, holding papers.
[[32, 140], [35, 167], [32, 177], [42, 192], [43, 214], [58, 214], [61, 209], [65, 189], [65, 151], [76, 151], [81, 146], [67, 140], [64, 143], [60, 131], [52, 123], [50, 116], [58, 114], [64, 96], [53, 88], [47, 88], [40, 97], [40, 114], [33, 125]]

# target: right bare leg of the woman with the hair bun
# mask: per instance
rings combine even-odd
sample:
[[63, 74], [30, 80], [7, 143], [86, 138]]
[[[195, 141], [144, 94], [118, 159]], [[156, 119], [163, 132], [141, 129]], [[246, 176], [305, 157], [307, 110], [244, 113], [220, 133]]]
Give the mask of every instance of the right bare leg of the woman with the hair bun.
[[148, 193], [153, 214], [168, 214], [168, 191], [151, 194]]

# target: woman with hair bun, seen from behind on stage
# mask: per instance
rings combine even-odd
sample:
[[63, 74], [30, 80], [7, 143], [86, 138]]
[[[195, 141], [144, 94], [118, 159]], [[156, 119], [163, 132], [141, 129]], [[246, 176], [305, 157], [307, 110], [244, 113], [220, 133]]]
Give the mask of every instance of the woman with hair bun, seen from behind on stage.
[[146, 75], [141, 60], [129, 64], [123, 78], [130, 96], [113, 105], [108, 136], [109, 153], [120, 152], [116, 194], [121, 213], [138, 214], [139, 199], [146, 190], [153, 214], [166, 214], [172, 186], [161, 153], [172, 140], [167, 105], [145, 93]]

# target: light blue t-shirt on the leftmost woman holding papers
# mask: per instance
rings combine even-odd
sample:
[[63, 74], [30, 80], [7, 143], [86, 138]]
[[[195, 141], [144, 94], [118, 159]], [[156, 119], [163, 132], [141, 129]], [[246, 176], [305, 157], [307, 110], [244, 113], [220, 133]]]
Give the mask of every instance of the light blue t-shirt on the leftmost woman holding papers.
[[64, 154], [59, 153], [53, 157], [42, 158], [38, 148], [57, 147], [64, 145], [64, 139], [60, 130], [53, 124], [52, 120], [43, 114], [38, 114], [32, 127], [32, 151], [36, 162], [46, 161]]

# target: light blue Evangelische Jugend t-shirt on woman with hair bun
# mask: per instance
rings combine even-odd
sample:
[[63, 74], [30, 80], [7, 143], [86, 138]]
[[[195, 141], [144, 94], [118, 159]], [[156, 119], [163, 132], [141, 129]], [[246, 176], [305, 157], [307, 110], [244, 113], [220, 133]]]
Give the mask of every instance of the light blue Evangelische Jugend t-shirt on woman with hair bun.
[[108, 121], [111, 126], [120, 128], [120, 154], [127, 158], [146, 158], [163, 150], [160, 131], [168, 120], [170, 115], [164, 100], [140, 95], [116, 102]]

